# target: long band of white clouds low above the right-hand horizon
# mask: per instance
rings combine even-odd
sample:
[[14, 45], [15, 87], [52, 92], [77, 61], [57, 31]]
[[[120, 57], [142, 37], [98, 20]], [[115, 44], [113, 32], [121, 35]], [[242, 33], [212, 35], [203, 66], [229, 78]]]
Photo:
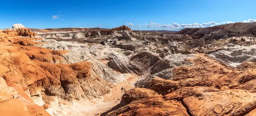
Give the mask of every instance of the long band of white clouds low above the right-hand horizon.
[[[239, 21], [239, 22], [243, 22], [243, 23], [253, 23], [256, 22], [256, 19], [248, 19], [248, 20], [244, 20], [244, 21]], [[184, 28], [205, 28], [205, 27], [209, 27], [209, 26], [217, 26], [217, 25], [222, 25], [222, 24], [229, 24], [229, 23], [235, 23], [233, 21], [224, 21], [221, 23], [215, 23], [215, 22], [209, 22], [209, 23], [190, 23], [190, 24], [178, 24], [178, 23], [172, 23], [172, 24], [159, 24], [159, 23], [153, 23], [150, 22], [148, 24], [139, 24], [137, 26], [135, 26], [135, 28], [139, 28], [140, 26], [146, 25], [148, 28], [150, 28], [151, 26], [155, 26], [155, 27], [162, 27], [162, 28], [166, 28], [166, 30], [180, 30], [180, 29], [184, 29]], [[127, 23], [127, 26], [131, 27], [134, 26], [133, 23]]]

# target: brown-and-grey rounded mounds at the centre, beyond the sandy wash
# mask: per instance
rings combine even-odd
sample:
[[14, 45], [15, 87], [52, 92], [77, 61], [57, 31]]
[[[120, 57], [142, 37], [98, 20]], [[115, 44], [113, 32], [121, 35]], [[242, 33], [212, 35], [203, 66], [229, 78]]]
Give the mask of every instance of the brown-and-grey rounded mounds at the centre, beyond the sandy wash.
[[162, 59], [152, 52], [140, 52], [131, 58], [116, 57], [108, 62], [108, 66], [120, 71], [121, 73], [136, 73], [139, 75], [155, 74], [175, 66], [187, 65], [189, 61], [186, 58], [192, 58], [193, 55], [173, 55], [170, 58]]

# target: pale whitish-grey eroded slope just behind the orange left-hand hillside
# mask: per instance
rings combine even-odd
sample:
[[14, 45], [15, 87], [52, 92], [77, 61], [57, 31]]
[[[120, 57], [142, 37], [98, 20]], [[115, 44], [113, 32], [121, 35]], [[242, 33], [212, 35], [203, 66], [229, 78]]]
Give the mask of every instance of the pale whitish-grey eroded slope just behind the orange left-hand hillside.
[[58, 42], [52, 39], [42, 40], [41, 42], [46, 42], [46, 44], [39, 44], [37, 46], [53, 50], [70, 50], [70, 52], [63, 55], [66, 61], [62, 63], [76, 63], [88, 59], [111, 60], [119, 54], [112, 48], [102, 46], [101, 44], [73, 44], [71, 42]]

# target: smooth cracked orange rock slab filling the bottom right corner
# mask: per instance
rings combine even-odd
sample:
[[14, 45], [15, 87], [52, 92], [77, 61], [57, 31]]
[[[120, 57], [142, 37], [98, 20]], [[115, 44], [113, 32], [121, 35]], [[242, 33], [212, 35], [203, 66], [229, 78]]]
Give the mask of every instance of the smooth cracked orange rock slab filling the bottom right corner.
[[192, 116], [243, 116], [256, 108], [255, 96], [255, 93], [232, 89], [187, 97], [183, 103]]

